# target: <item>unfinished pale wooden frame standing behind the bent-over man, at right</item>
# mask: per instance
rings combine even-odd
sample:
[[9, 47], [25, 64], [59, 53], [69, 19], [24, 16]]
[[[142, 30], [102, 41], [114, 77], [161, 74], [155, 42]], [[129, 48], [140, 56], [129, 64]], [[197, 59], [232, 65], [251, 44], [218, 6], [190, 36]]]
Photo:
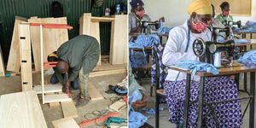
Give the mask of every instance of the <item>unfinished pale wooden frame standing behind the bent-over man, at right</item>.
[[[100, 22], [112, 23], [109, 56], [110, 63], [127, 63], [127, 15], [115, 15], [114, 17], [93, 17], [91, 14], [83, 14], [79, 19], [79, 34], [90, 35], [96, 38], [100, 43]], [[101, 61], [99, 61], [97, 65], [101, 65]]]

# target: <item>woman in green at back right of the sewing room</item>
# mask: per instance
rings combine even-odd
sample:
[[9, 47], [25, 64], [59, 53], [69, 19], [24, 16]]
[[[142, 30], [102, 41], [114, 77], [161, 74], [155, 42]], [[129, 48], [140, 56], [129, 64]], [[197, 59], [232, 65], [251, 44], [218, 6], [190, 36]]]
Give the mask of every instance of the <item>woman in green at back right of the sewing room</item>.
[[231, 12], [230, 3], [228, 2], [221, 3], [219, 7], [222, 11], [222, 14], [217, 15], [216, 20], [218, 20], [225, 26], [227, 21], [233, 21], [233, 17], [232, 15], [230, 15], [230, 12]]

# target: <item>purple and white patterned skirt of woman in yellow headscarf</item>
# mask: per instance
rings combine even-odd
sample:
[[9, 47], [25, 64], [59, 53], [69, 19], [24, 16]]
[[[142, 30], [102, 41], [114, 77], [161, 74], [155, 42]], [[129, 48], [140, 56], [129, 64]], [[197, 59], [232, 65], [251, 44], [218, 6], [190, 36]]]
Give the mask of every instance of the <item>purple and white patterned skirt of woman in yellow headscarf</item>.
[[[183, 110], [185, 99], [185, 85], [186, 80], [181, 81], [166, 81], [164, 84], [166, 102], [171, 114], [169, 120], [172, 123], [180, 124], [183, 122]], [[200, 83], [191, 81], [190, 85], [190, 99], [189, 99], [189, 128], [196, 127], [196, 120], [198, 117], [198, 93]], [[238, 90], [233, 79], [228, 77], [212, 77], [206, 78], [204, 90], [204, 102], [221, 102], [225, 100], [238, 98]], [[194, 102], [191, 104], [191, 102]], [[212, 108], [220, 128], [239, 128], [242, 124], [241, 105], [238, 101], [224, 102], [212, 104], [211, 107], [204, 106], [203, 114], [207, 114], [203, 118], [203, 123], [208, 128], [215, 128], [216, 122], [212, 117]]]

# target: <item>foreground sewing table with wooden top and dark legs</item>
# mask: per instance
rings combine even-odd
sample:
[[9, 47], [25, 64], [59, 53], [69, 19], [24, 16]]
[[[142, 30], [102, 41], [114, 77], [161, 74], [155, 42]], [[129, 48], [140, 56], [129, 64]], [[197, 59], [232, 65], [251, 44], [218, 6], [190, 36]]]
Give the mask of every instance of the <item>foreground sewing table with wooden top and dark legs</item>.
[[[188, 125], [188, 117], [189, 117], [189, 88], [190, 88], [190, 81], [191, 81], [191, 72], [189, 70], [180, 69], [177, 67], [169, 67], [172, 70], [176, 70], [179, 72], [187, 73], [186, 79], [186, 92], [185, 92], [185, 101], [184, 101], [184, 124], [183, 128], [186, 128]], [[254, 128], [254, 104], [255, 104], [255, 72], [256, 72], [256, 65], [250, 66], [238, 66], [238, 67], [223, 67], [218, 69], [218, 75], [214, 75], [212, 73], [203, 73], [199, 72], [196, 75], [200, 76], [200, 92], [199, 92], [199, 108], [198, 108], [198, 122], [197, 127], [202, 127], [202, 118], [203, 118], [203, 96], [204, 96], [204, 86], [205, 86], [205, 79], [206, 77], [214, 77], [214, 76], [223, 76], [223, 75], [233, 75], [237, 73], [251, 73], [250, 76], [250, 93], [249, 98], [251, 99], [250, 103], [250, 112], [249, 112], [249, 128]], [[241, 100], [245, 98], [239, 98], [235, 100]], [[230, 101], [229, 101], [230, 102]]]

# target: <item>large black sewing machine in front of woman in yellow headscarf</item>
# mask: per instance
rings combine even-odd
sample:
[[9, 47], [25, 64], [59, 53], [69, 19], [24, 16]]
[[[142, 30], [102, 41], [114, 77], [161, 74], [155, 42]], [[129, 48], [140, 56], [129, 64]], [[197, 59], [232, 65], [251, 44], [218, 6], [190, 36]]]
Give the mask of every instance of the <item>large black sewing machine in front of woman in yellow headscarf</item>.
[[193, 51], [200, 61], [207, 63], [214, 63], [214, 55], [217, 52], [226, 52], [226, 59], [234, 60], [239, 54], [239, 49], [235, 45], [234, 40], [228, 40], [224, 43], [218, 43], [216, 41], [205, 42], [201, 38], [196, 38], [193, 45]]

